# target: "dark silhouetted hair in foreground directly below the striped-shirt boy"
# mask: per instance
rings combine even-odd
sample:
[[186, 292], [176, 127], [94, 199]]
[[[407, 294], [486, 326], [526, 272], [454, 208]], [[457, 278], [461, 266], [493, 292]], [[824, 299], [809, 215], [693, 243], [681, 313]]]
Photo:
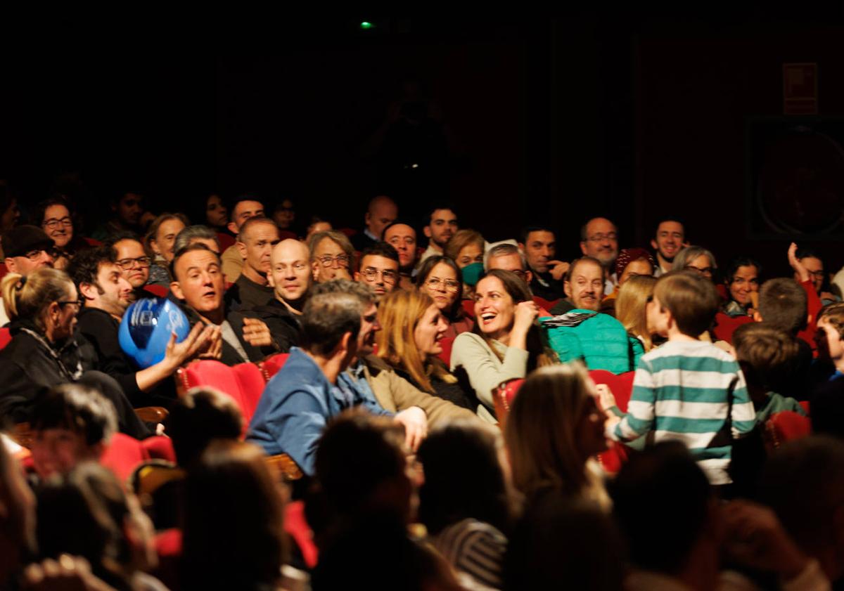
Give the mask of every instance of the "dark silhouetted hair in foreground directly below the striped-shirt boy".
[[657, 443], [631, 457], [609, 493], [636, 567], [679, 572], [706, 528], [711, 501], [709, 481], [685, 445]]

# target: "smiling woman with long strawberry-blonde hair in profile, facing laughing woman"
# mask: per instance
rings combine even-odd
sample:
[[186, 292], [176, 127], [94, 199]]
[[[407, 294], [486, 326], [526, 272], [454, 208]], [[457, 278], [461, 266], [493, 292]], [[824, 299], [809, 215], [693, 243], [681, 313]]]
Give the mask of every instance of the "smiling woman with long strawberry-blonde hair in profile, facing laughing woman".
[[401, 378], [457, 406], [477, 407], [473, 393], [463, 390], [439, 357], [448, 323], [430, 296], [403, 290], [388, 294], [378, 306], [378, 324], [378, 357]]

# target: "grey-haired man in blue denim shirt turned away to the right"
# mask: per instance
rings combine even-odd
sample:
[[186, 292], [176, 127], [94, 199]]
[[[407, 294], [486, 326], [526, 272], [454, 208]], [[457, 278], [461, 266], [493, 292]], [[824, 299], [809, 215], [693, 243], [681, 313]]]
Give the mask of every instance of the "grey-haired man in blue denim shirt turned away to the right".
[[[377, 326], [371, 290], [341, 280], [314, 287], [302, 313], [303, 347], [290, 349], [261, 396], [247, 439], [268, 454], [288, 454], [312, 475], [317, 443], [328, 419], [353, 406], [392, 416], [374, 397], [338, 376]], [[325, 286], [325, 287], [323, 287]]]

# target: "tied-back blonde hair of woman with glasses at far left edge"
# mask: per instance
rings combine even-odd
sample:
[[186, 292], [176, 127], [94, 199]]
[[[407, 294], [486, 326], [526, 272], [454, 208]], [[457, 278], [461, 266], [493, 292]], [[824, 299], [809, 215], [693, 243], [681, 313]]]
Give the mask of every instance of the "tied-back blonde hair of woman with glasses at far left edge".
[[36, 269], [27, 277], [9, 273], [0, 282], [6, 315], [9, 320], [29, 318], [44, 330], [41, 315], [53, 302], [68, 298], [68, 286], [72, 285], [67, 273], [51, 267]]

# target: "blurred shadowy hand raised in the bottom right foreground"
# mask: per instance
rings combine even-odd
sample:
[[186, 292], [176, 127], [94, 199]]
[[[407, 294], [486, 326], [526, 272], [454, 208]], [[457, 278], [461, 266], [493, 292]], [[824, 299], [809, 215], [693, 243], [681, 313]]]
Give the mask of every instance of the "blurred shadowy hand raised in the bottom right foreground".
[[723, 508], [727, 540], [724, 548], [733, 559], [749, 567], [797, 577], [809, 559], [782, 529], [771, 509], [749, 501], [733, 501]]

